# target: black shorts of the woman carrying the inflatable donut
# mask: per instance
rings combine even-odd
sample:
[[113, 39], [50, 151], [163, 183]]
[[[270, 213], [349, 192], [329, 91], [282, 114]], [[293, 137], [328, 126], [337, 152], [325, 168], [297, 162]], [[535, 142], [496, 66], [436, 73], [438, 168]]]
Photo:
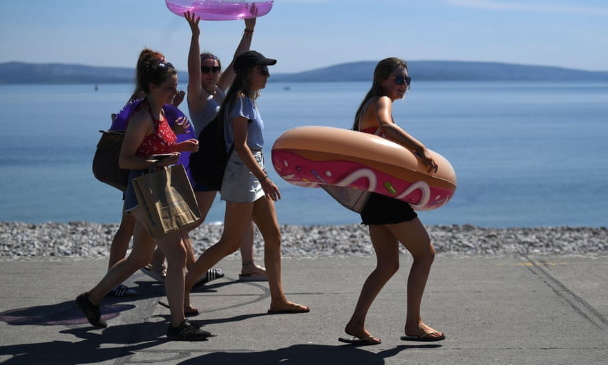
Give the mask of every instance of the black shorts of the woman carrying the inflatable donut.
[[410, 205], [402, 200], [372, 193], [361, 211], [364, 225], [384, 225], [409, 222], [418, 216]]

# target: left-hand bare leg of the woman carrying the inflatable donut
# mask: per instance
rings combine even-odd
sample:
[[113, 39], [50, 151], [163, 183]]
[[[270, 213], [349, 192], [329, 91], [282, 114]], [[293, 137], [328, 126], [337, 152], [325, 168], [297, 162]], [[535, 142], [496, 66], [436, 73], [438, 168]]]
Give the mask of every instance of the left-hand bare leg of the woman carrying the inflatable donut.
[[363, 283], [361, 294], [352, 317], [344, 329], [351, 336], [365, 338], [370, 333], [365, 328], [365, 317], [374, 299], [388, 280], [399, 270], [399, 242], [385, 225], [370, 225], [370, 238], [376, 252], [376, 268]]

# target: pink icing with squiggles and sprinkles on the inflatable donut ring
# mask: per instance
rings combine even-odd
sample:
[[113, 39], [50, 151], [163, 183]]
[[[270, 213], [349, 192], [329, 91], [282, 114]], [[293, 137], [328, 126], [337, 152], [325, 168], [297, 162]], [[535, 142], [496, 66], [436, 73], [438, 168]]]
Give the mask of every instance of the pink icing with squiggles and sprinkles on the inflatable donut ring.
[[442, 207], [454, 195], [454, 190], [432, 187], [422, 180], [397, 180], [352, 161], [315, 161], [289, 151], [273, 150], [272, 164], [281, 178], [294, 185], [319, 187], [325, 184], [374, 191], [410, 203], [417, 210]]

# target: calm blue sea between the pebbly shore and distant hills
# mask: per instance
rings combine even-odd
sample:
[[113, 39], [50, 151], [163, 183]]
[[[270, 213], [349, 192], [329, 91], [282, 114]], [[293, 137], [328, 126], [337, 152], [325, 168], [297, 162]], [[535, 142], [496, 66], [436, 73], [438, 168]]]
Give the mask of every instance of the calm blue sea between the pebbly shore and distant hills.
[[[120, 221], [122, 193], [98, 182], [99, 129], [131, 85], [0, 86], [0, 221]], [[270, 83], [258, 100], [267, 164], [274, 140], [303, 125], [349, 128], [367, 82]], [[183, 109], [183, 108], [182, 108]], [[448, 158], [458, 189], [427, 225], [607, 226], [608, 84], [415, 82], [397, 123]], [[280, 223], [359, 223], [321, 189], [281, 189]], [[222, 221], [216, 198], [208, 221]]]

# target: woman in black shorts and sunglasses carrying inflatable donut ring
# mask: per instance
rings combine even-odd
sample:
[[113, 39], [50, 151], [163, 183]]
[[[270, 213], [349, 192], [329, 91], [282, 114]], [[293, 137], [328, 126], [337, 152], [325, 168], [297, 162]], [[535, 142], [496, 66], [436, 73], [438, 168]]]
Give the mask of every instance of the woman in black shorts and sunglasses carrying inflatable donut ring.
[[[365, 95], [355, 114], [352, 129], [374, 133], [397, 142], [415, 152], [428, 171], [437, 171], [437, 164], [418, 140], [401, 129], [392, 118], [392, 103], [403, 99], [410, 87], [405, 61], [391, 57], [381, 60], [374, 71], [372, 88]], [[352, 338], [340, 341], [359, 344], [380, 344], [365, 328], [365, 317], [374, 299], [399, 269], [399, 243], [412, 254], [413, 263], [407, 283], [407, 317], [405, 341], [439, 341], [444, 333], [430, 328], [420, 317], [422, 294], [435, 258], [435, 249], [424, 225], [408, 203], [372, 193], [361, 211], [361, 221], [368, 225], [377, 256], [377, 266], [363, 283], [361, 294], [345, 333]]]

